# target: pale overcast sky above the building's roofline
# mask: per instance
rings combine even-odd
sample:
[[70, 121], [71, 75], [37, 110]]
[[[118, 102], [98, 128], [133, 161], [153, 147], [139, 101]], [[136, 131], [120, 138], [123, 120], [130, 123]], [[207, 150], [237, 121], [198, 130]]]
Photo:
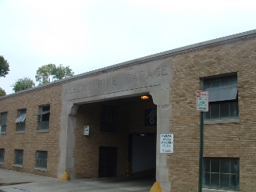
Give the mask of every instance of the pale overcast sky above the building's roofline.
[[75, 75], [256, 29], [256, 1], [0, 0], [0, 55], [12, 94], [53, 63]]

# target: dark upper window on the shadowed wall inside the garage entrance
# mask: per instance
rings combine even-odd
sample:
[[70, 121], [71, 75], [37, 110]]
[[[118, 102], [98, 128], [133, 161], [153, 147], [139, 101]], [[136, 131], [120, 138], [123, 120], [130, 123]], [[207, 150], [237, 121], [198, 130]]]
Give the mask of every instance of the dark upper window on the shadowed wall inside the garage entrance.
[[107, 105], [101, 106], [101, 131], [117, 132], [117, 108]]

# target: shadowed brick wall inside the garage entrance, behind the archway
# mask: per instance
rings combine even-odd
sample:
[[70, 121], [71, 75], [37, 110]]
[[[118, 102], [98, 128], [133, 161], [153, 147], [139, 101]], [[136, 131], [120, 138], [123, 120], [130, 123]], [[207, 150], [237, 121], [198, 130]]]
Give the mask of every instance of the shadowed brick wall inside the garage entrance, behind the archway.
[[[100, 132], [101, 105], [117, 106], [118, 133]], [[156, 127], [144, 127], [144, 109], [155, 105], [119, 105], [113, 101], [80, 105], [76, 118], [76, 145], [73, 153], [76, 178], [98, 177], [99, 147], [117, 147], [117, 175], [123, 176], [128, 160], [129, 133], [156, 133]], [[84, 126], [90, 135], [84, 136]]]

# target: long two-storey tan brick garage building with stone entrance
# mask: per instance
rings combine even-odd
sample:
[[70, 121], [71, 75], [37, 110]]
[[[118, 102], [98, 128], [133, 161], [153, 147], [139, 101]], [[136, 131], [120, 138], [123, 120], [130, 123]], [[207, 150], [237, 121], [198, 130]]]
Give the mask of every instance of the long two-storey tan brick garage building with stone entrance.
[[6, 95], [0, 169], [97, 178], [123, 176], [131, 162], [132, 173], [155, 169], [163, 191], [197, 191], [204, 90], [204, 191], [255, 191], [255, 73], [251, 30]]

